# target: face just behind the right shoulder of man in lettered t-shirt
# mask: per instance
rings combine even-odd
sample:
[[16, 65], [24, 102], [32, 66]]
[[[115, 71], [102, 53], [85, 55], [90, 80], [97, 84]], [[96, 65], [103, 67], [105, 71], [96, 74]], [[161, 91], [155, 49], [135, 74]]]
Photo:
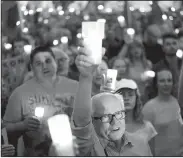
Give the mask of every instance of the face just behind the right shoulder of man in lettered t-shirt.
[[[58, 65], [57, 73], [58, 74], [68, 73], [69, 71], [68, 55], [63, 52], [60, 52], [60, 54], [57, 54], [56, 61]], [[67, 75], [67, 74], [63, 74], [63, 75]]]

